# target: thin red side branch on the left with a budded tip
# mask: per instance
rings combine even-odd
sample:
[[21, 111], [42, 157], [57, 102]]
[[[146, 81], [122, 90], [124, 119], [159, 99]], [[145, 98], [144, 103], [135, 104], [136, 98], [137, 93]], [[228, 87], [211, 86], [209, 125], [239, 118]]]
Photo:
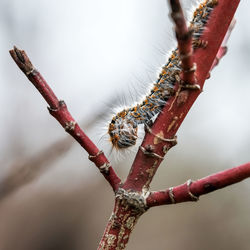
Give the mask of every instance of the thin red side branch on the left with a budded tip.
[[62, 125], [66, 132], [74, 137], [75, 140], [78, 141], [88, 152], [89, 159], [95, 163], [113, 190], [116, 191], [121, 182], [120, 178], [116, 175], [104, 153], [95, 146], [75, 122], [74, 118], [69, 113], [65, 102], [58, 100], [42, 75], [33, 67], [25, 51], [14, 47], [13, 50], [10, 50], [10, 55], [49, 104], [48, 109], [50, 114]]

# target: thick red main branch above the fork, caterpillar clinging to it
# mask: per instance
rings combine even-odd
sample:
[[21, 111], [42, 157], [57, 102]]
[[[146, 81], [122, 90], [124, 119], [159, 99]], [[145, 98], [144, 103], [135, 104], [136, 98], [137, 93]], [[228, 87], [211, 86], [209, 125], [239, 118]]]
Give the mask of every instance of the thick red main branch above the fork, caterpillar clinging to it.
[[[194, 52], [194, 61], [197, 65], [197, 83], [199, 83], [201, 89], [227, 33], [238, 4], [239, 0], [220, 0], [214, 7], [206, 29], [200, 37], [201, 40], [207, 41], [206, 48], [196, 49]], [[182, 92], [180, 92], [167, 102], [163, 111], [157, 117], [151, 131], [146, 133], [142, 146], [151, 152], [145, 154], [142, 150], [138, 151], [129, 176], [124, 183], [124, 189], [140, 192], [143, 188], [149, 186], [166, 151], [173, 146], [171, 142], [162, 141], [159, 137], [166, 139], [174, 138], [188, 111], [200, 94], [198, 90], [187, 91], [188, 95], [182, 95]]]

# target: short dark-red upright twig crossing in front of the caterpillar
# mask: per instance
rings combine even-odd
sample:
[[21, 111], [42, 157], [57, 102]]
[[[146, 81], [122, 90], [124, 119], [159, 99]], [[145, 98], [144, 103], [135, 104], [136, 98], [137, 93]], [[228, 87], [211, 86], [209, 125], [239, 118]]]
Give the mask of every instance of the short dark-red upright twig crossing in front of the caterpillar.
[[195, 84], [196, 65], [193, 59], [192, 30], [189, 30], [179, 0], [170, 0], [171, 16], [175, 22], [175, 33], [181, 59], [183, 84]]

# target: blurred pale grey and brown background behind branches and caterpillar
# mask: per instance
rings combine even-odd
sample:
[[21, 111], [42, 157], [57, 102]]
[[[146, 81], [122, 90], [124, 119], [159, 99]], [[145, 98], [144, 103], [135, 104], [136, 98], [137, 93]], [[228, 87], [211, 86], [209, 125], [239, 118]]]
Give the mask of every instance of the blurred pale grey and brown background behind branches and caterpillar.
[[[183, 1], [187, 13], [193, 3]], [[249, 12], [242, 1], [228, 54], [181, 126], [152, 189], [249, 161]], [[168, 13], [165, 0], [0, 0], [0, 250], [96, 249], [113, 207], [108, 184], [48, 114], [8, 50], [26, 50], [100, 143], [112, 108], [140, 99], [175, 46]], [[111, 155], [122, 178], [134, 152], [126, 161]], [[198, 203], [154, 208], [138, 222], [127, 249], [250, 249], [249, 191], [246, 180]]]

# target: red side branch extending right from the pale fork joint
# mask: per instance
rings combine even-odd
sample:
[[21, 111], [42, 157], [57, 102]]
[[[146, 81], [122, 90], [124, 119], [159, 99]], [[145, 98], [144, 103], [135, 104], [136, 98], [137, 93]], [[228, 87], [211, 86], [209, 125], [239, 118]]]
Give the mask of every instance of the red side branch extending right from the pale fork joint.
[[197, 201], [198, 197], [250, 177], [250, 162], [241, 166], [204, 177], [197, 181], [188, 181], [182, 185], [168, 188], [165, 191], [151, 192], [147, 206]]

